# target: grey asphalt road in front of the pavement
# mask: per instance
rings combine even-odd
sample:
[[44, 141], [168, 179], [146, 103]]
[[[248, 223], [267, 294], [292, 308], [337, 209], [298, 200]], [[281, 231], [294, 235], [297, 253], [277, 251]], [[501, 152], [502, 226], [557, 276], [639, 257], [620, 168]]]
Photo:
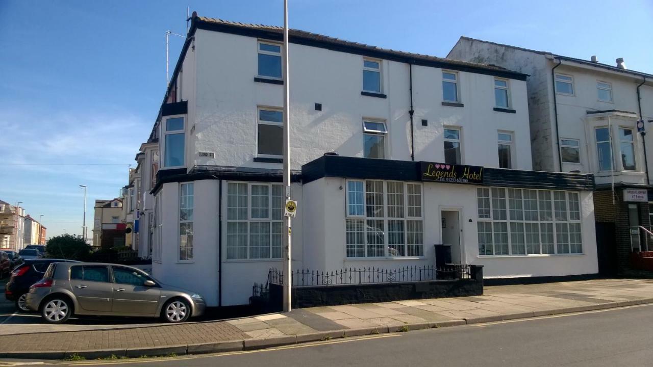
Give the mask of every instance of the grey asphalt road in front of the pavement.
[[[167, 360], [139, 367], [650, 366], [653, 306], [347, 338], [263, 351]], [[106, 363], [108, 361], [104, 361]], [[77, 362], [80, 363], [80, 362]], [[84, 362], [81, 362], [84, 364]], [[87, 362], [98, 365], [103, 362]]]

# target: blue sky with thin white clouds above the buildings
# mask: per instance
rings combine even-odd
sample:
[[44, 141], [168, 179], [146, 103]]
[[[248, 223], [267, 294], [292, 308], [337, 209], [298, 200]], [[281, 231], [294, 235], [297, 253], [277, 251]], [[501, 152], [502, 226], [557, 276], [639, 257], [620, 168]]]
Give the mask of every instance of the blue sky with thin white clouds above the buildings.
[[[395, 50], [444, 57], [466, 35], [653, 72], [650, 0], [289, 2], [293, 28]], [[187, 6], [283, 22], [281, 0], [0, 1], [0, 199], [44, 215], [48, 236], [81, 232], [78, 185], [92, 218], [127, 184], [165, 93], [165, 31], [185, 33]]]

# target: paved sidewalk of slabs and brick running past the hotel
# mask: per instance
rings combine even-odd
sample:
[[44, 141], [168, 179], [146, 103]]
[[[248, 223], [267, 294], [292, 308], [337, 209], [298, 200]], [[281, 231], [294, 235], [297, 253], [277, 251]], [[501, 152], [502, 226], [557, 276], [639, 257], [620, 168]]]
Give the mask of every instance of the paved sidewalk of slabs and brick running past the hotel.
[[0, 336], [0, 357], [57, 359], [77, 353], [90, 359], [237, 351], [651, 302], [653, 281], [645, 279], [504, 285], [486, 287], [483, 296], [306, 308], [183, 325], [5, 335]]

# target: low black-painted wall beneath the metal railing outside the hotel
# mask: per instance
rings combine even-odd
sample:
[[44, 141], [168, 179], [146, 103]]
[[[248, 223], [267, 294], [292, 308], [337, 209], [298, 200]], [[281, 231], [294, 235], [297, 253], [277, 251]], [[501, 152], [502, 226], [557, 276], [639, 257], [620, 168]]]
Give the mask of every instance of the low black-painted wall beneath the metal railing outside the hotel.
[[[270, 284], [270, 306], [281, 305], [283, 286]], [[471, 279], [293, 287], [293, 308], [483, 295], [483, 266]]]

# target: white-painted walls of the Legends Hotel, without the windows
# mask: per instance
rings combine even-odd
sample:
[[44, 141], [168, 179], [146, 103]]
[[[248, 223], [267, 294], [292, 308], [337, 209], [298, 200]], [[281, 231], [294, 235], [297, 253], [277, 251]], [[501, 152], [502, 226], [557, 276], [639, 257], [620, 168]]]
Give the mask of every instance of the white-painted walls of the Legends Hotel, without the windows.
[[[151, 141], [158, 139], [161, 152], [161, 169], [151, 190], [155, 195], [153, 275], [164, 283], [201, 293], [209, 306], [247, 304], [253, 283], [264, 283], [268, 269], [280, 268], [281, 259], [280, 256], [279, 259], [250, 259], [249, 255], [246, 258], [234, 255], [243, 238], [239, 239], [234, 232], [227, 234], [227, 227], [231, 226], [232, 230], [238, 227], [238, 220], [230, 217], [238, 210], [238, 195], [230, 190], [246, 187], [247, 199], [241, 199], [246, 200], [246, 226], [251, 232], [252, 202], [258, 200], [253, 199], [252, 192], [260, 193], [260, 185], [268, 185], [264, 197], [272, 208], [266, 212], [265, 221], [270, 222], [272, 231], [278, 229], [275, 223], [279, 219], [275, 219], [278, 217], [274, 213], [280, 208], [275, 201], [278, 197], [272, 197], [272, 194], [277, 189], [274, 185], [281, 182], [281, 163], [257, 155], [257, 108], [280, 109], [283, 86], [279, 81], [260, 82], [255, 78], [258, 76], [259, 40], [279, 42], [281, 30], [193, 16], [190, 32], [193, 37], [188, 38], [183, 48], [150, 136]], [[410, 180], [393, 176], [391, 181], [402, 185], [415, 181], [421, 187], [423, 253], [411, 257], [392, 256], [388, 255], [386, 247], [382, 259], [348, 257], [345, 193], [350, 178], [347, 175], [324, 176], [304, 183], [306, 174], [302, 171], [307, 163], [328, 159], [323, 157], [327, 152], [340, 154], [341, 157], [335, 159], [355, 157], [358, 159], [355, 165], [361, 168], [374, 167], [377, 164], [374, 161], [443, 162], [443, 129], [452, 127], [460, 131], [462, 163], [479, 167], [499, 167], [497, 135], [499, 132], [511, 133], [511, 168], [520, 170], [514, 172], [520, 172], [521, 176], [537, 180], [532, 175], [534, 172], [529, 171], [532, 161], [526, 75], [488, 65], [444, 59], [434, 61], [435, 58], [425, 59], [412, 54], [399, 57], [371, 46], [334, 39], [315, 40], [307, 35], [293, 31], [289, 50], [293, 84], [292, 195], [300, 203], [297, 217], [293, 219], [293, 268], [329, 271], [350, 266], [399, 268], [434, 265], [434, 244], [442, 242], [441, 210], [448, 208], [460, 211], [461, 244], [464, 245], [460, 246], [458, 260], [485, 265], [484, 273], [488, 277], [596, 273], [592, 193], [585, 191], [586, 185], [594, 185], [591, 175], [581, 175], [585, 180], [581, 189], [569, 189], [579, 193], [581, 203], [581, 253], [479, 256], [475, 185], [421, 183], [417, 178]], [[361, 93], [364, 57], [380, 61], [381, 93], [377, 95]], [[443, 103], [443, 70], [457, 75], [457, 103]], [[496, 108], [495, 78], [507, 80], [509, 108]], [[409, 114], [411, 87], [412, 129]], [[321, 110], [316, 108], [316, 104], [321, 104]], [[162, 127], [169, 118], [177, 117], [184, 119], [184, 164], [164, 167], [166, 147]], [[363, 158], [364, 120], [385, 122], [387, 159]], [[412, 142], [411, 135], [414, 136]], [[414, 157], [411, 157], [413, 147]], [[509, 174], [513, 170], [505, 172]], [[358, 179], [387, 181], [374, 174]], [[184, 199], [180, 195], [182, 185], [187, 183], [192, 183], [190, 206], [187, 199], [190, 186], [184, 187]], [[238, 186], [238, 183], [246, 185]], [[190, 208], [193, 212], [192, 259], [180, 259], [182, 202], [184, 210]], [[270, 241], [274, 242], [280, 236], [271, 238]], [[248, 254], [258, 251], [251, 248], [249, 240], [244, 241]], [[272, 247], [270, 251], [277, 250]]]

